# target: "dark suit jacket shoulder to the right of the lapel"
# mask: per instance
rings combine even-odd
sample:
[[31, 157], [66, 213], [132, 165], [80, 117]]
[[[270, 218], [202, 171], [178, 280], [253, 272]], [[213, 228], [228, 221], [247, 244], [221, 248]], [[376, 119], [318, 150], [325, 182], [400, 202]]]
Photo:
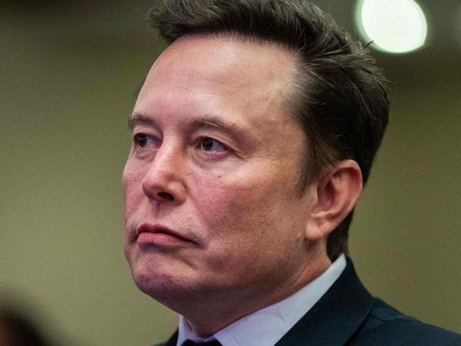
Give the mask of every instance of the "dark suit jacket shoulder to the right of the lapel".
[[422, 323], [403, 315], [380, 299], [374, 299], [367, 319], [350, 345], [461, 346], [461, 335]]

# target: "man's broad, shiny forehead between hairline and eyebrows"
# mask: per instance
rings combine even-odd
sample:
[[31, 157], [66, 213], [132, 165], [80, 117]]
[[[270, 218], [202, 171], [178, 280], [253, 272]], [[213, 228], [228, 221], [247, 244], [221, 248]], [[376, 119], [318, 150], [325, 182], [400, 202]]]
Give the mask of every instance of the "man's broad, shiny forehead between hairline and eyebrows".
[[267, 104], [283, 106], [294, 70], [293, 53], [276, 45], [185, 36], [153, 64], [135, 109], [158, 109], [166, 99], [170, 107], [183, 102], [193, 107], [213, 98], [231, 109], [250, 107], [264, 112]]

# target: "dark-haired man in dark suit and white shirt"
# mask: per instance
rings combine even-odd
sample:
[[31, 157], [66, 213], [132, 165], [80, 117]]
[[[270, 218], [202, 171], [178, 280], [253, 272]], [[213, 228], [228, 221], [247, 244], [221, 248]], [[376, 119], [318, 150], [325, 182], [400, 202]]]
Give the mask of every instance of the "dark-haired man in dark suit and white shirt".
[[367, 50], [305, 1], [162, 0], [129, 121], [125, 254], [165, 345], [461, 345], [371, 298], [347, 254], [387, 124]]

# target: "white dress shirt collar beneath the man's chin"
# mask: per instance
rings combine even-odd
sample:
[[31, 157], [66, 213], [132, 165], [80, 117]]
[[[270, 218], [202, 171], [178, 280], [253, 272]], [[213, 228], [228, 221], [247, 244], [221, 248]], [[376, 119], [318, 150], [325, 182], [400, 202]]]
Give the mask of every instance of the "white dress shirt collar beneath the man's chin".
[[183, 345], [185, 340], [218, 340], [222, 346], [273, 346], [322, 298], [345, 268], [346, 257], [342, 254], [322, 275], [299, 291], [236, 320], [206, 339], [197, 337], [180, 315], [176, 345]]

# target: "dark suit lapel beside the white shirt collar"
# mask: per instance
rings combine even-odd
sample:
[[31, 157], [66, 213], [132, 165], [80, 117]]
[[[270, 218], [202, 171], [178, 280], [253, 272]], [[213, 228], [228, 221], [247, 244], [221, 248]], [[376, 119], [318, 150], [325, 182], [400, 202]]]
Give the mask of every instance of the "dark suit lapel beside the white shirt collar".
[[276, 346], [345, 345], [367, 318], [372, 303], [348, 258], [337, 281]]

